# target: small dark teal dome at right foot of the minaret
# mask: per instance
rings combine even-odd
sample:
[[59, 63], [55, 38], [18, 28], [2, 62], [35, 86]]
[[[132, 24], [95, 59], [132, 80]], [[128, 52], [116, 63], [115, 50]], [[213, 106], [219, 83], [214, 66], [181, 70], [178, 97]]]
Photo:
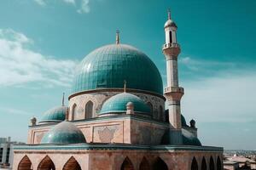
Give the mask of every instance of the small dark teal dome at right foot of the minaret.
[[182, 135], [184, 145], [201, 146], [200, 140], [193, 133], [190, 133], [188, 130], [182, 129]]

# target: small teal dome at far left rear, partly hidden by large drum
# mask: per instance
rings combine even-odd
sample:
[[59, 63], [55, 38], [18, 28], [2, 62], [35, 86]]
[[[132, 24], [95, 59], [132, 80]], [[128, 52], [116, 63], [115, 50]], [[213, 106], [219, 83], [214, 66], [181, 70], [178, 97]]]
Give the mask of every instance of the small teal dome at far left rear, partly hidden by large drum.
[[44, 122], [62, 122], [66, 118], [67, 106], [57, 106], [46, 111], [39, 123]]

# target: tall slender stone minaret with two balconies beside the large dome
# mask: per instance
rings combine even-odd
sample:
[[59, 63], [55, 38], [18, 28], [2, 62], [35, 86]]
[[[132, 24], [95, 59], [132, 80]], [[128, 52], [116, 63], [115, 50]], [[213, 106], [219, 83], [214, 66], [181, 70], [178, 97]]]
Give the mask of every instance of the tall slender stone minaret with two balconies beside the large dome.
[[178, 86], [177, 56], [180, 47], [176, 37], [177, 26], [171, 20], [171, 11], [168, 11], [168, 20], [165, 24], [166, 43], [163, 45], [163, 54], [166, 57], [167, 87], [165, 97], [169, 109], [169, 122], [171, 123], [170, 143], [182, 144], [180, 100], [183, 96], [183, 88]]

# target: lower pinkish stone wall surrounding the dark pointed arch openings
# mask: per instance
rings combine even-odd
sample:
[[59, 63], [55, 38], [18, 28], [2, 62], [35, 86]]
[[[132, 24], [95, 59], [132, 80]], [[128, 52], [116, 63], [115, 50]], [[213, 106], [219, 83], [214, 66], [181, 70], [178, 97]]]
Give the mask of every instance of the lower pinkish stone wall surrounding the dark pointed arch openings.
[[[67, 161], [73, 157], [78, 162], [82, 170], [120, 170], [124, 162], [129, 162], [131, 170], [139, 170], [142, 167], [158, 169], [155, 165], [164, 164], [169, 170], [190, 170], [192, 160], [195, 158], [198, 169], [201, 170], [203, 158], [207, 161], [209, 170], [209, 160], [214, 161], [214, 170], [218, 170], [216, 161], [222, 160], [222, 151], [206, 150], [15, 150], [14, 169], [19, 169], [22, 165], [22, 158], [27, 156], [32, 163], [33, 169], [39, 169], [38, 165], [45, 157], [49, 157], [54, 163], [56, 170], [61, 170]], [[146, 163], [142, 163], [142, 162]], [[21, 163], [20, 163], [21, 162]], [[160, 162], [160, 163], [159, 163]], [[148, 165], [147, 165], [148, 164]], [[125, 164], [127, 166], [127, 163]], [[221, 169], [223, 164], [221, 164]]]

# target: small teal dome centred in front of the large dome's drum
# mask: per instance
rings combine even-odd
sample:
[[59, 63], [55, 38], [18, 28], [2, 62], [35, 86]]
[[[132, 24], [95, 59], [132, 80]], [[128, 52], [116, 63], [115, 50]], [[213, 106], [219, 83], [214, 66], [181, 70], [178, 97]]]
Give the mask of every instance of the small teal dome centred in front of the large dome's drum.
[[134, 112], [146, 114], [148, 116], [150, 115], [148, 105], [136, 95], [128, 93], [116, 94], [105, 101], [102, 105], [100, 115], [108, 113], [124, 113], [126, 112], [126, 105], [129, 102], [133, 104]]

